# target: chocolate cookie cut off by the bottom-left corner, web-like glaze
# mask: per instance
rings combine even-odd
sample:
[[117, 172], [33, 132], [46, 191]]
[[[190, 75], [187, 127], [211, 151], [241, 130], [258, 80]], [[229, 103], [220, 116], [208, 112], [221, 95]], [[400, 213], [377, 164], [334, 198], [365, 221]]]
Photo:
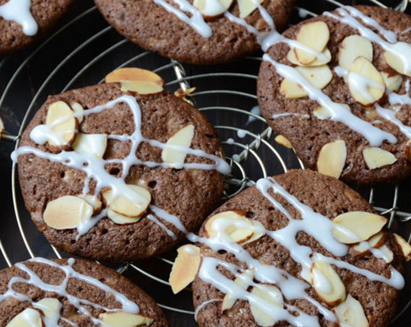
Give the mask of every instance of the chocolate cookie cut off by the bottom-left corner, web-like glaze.
[[0, 326], [168, 326], [156, 302], [94, 262], [35, 258], [0, 271]]

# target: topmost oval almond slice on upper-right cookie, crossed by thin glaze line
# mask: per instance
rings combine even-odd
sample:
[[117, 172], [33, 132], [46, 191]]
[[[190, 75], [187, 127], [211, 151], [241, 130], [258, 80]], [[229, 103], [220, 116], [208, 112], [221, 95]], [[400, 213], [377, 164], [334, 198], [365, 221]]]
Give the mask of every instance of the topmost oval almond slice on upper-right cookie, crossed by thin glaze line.
[[[316, 21], [314, 23], [307, 23], [301, 26], [297, 33], [296, 39], [298, 42], [313, 49], [314, 52], [323, 52], [330, 39], [330, 30], [323, 21]], [[316, 60], [317, 56], [314, 53], [307, 52], [300, 48], [295, 48], [297, 60], [302, 65], [308, 65]]]

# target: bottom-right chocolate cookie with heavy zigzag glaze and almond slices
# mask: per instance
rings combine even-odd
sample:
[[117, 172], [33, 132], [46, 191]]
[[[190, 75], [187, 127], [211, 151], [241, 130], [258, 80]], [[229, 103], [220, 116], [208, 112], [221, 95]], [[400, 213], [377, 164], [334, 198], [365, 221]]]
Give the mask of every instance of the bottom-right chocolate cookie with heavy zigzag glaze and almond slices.
[[387, 326], [404, 286], [404, 254], [386, 223], [357, 192], [318, 172], [259, 180], [201, 227], [197, 322]]

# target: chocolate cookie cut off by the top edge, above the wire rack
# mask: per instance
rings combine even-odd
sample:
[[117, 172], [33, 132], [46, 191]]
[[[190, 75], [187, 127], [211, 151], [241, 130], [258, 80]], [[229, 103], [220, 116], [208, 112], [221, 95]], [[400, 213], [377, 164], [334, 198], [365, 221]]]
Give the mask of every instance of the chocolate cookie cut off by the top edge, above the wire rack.
[[[271, 16], [276, 28], [281, 30], [294, 1], [259, 2], [263, 6], [261, 10]], [[260, 49], [252, 30], [270, 30], [251, 0], [196, 0], [194, 4], [191, 0], [95, 0], [95, 3], [121, 35], [146, 50], [185, 63], [227, 63], [251, 55]], [[179, 5], [186, 9], [181, 11]], [[203, 14], [197, 7], [203, 8]]]

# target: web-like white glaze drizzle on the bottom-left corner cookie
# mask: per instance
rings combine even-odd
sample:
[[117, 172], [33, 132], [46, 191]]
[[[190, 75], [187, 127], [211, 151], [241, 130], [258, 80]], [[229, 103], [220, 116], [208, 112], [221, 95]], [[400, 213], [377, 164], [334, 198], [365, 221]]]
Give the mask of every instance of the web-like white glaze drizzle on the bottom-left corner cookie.
[[[17, 263], [15, 264], [15, 267], [25, 272], [28, 275], [28, 279], [17, 277], [17, 276], [12, 277], [8, 284], [8, 290], [5, 293], [0, 295], [0, 303], [9, 298], [14, 298], [21, 302], [29, 301], [33, 307], [41, 309], [41, 306], [36, 304], [36, 302], [33, 302], [30, 299], [30, 297], [28, 297], [27, 295], [18, 293], [17, 291], [13, 289], [14, 284], [25, 283], [25, 284], [34, 285], [35, 287], [45, 292], [53, 292], [53, 293], [56, 293], [58, 296], [65, 297], [67, 301], [69, 301], [69, 303], [72, 304], [81, 314], [89, 317], [90, 320], [92, 320], [92, 322], [95, 323], [96, 325], [100, 325], [102, 321], [99, 320], [98, 318], [94, 318], [91, 315], [91, 313], [88, 311], [88, 309], [85, 307], [85, 305], [92, 306], [93, 308], [96, 308], [96, 309], [102, 309], [106, 312], [124, 311], [124, 312], [135, 313], [135, 314], [140, 312], [139, 306], [135, 304], [134, 302], [130, 301], [125, 295], [121, 294], [120, 292], [114, 290], [113, 288], [109, 287], [108, 285], [100, 282], [99, 280], [93, 277], [83, 275], [79, 273], [78, 271], [76, 271], [73, 268], [73, 264], [75, 260], [72, 258], [68, 259], [67, 265], [60, 265], [56, 262], [53, 262], [51, 260], [47, 260], [44, 258], [33, 258], [33, 259], [28, 260], [28, 262], [46, 264], [49, 267], [58, 268], [60, 271], [64, 272], [65, 278], [62, 281], [62, 283], [59, 285], [47, 284], [37, 274], [35, 274], [34, 271], [28, 268], [28, 266], [25, 263]], [[80, 281], [83, 281], [89, 285], [99, 288], [100, 290], [106, 292], [107, 294], [112, 295], [115, 298], [115, 300], [121, 304], [121, 309], [118, 309], [118, 308], [110, 309], [100, 304], [94, 303], [92, 301], [81, 299], [79, 297], [76, 297], [75, 295], [69, 294], [67, 292], [67, 283], [69, 282], [71, 278], [75, 278]], [[58, 320], [61, 318], [62, 317], [60, 314], [56, 315], [53, 318], [42, 317], [43, 322], [46, 327], [58, 326]], [[63, 320], [65, 322], [68, 322], [72, 326], [78, 326], [74, 322], [71, 322], [70, 320], [66, 318], [63, 318]]]

